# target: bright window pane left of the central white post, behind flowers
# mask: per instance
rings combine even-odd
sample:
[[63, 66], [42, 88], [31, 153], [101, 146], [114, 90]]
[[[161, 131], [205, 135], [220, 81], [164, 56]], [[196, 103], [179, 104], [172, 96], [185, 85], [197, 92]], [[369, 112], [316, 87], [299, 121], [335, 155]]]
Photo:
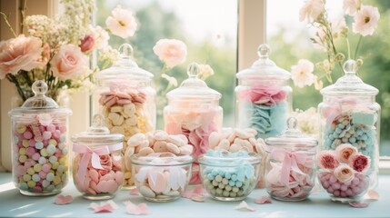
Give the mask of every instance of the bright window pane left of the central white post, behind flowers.
[[[109, 44], [117, 48], [123, 43], [135, 49], [135, 61], [140, 67], [159, 74], [162, 63], [153, 53], [153, 46], [162, 38], [179, 39], [187, 45], [185, 64], [168, 74], [180, 84], [187, 78], [186, 67], [192, 62], [209, 64], [215, 74], [205, 80], [209, 87], [223, 94], [224, 125], [234, 124], [234, 88], [237, 50], [236, 0], [98, 0], [97, 25], [105, 26], [105, 18], [116, 5], [135, 11], [139, 27], [127, 39], [112, 36]], [[222, 6], [223, 5], [223, 6]], [[162, 126], [159, 126], [161, 128]]]

